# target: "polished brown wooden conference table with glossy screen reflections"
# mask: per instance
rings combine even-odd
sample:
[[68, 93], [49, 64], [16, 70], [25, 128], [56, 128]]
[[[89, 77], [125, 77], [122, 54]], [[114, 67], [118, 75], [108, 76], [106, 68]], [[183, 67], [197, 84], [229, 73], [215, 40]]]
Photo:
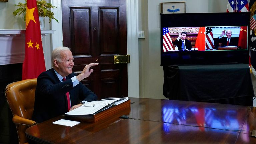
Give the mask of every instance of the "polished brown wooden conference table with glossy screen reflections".
[[28, 138], [56, 144], [255, 144], [256, 107], [147, 98], [130, 98], [129, 119], [52, 124], [64, 116], [32, 126]]

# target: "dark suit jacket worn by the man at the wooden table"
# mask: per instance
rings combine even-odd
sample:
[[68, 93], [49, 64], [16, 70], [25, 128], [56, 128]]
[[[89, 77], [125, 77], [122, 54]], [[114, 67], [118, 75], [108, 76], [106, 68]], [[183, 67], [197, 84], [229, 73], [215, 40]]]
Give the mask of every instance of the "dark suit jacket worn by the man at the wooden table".
[[81, 100], [95, 101], [97, 96], [81, 82], [73, 87], [72, 73], [60, 82], [53, 68], [42, 72], [37, 78], [35, 106], [32, 120], [40, 123], [68, 112], [66, 92], [70, 94], [71, 107]]

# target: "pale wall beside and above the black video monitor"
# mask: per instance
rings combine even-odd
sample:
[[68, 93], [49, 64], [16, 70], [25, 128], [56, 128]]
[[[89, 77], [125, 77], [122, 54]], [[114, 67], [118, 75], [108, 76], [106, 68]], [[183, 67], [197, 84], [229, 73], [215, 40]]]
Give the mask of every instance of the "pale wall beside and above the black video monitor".
[[160, 66], [161, 3], [182, 1], [186, 13], [226, 12], [227, 9], [227, 0], [138, 0], [138, 29], [145, 31], [145, 39], [139, 39], [140, 97], [166, 99]]

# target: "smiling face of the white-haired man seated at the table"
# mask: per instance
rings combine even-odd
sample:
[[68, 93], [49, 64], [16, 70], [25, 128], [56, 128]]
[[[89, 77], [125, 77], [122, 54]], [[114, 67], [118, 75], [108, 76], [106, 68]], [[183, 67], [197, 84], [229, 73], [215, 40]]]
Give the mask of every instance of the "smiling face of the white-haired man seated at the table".
[[73, 72], [74, 58], [70, 50], [65, 50], [61, 53], [61, 61], [57, 62], [57, 72], [65, 77]]

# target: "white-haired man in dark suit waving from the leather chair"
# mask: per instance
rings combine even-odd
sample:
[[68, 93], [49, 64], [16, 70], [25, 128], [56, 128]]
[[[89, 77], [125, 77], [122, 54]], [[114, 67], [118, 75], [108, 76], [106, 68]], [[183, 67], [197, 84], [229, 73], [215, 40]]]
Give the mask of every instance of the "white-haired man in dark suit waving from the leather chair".
[[53, 50], [53, 68], [42, 72], [37, 78], [32, 120], [40, 123], [78, 108], [86, 102], [97, 100], [96, 94], [80, 81], [89, 77], [93, 72], [90, 67], [98, 63], [86, 65], [81, 74], [76, 75], [72, 71], [73, 60], [68, 47]]

